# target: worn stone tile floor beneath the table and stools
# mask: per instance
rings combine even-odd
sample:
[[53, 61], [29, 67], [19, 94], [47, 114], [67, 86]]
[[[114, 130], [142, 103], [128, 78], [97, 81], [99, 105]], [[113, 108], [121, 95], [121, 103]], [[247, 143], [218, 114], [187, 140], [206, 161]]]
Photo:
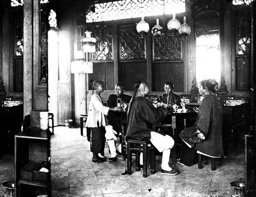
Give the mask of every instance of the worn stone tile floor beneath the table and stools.
[[[86, 133], [86, 132], [84, 132]], [[107, 157], [108, 148], [105, 148]], [[197, 165], [176, 164], [177, 176], [160, 174], [162, 157], [157, 156], [157, 173], [143, 178], [142, 171], [121, 175], [125, 161], [115, 163], [91, 162], [90, 143], [80, 136], [79, 128], [55, 127], [51, 137], [52, 196], [231, 196], [230, 182], [244, 180], [244, 153], [229, 154], [221, 165], [211, 170], [210, 164], [201, 170]], [[13, 181], [14, 156], [0, 156], [0, 182]], [[0, 185], [0, 196], [5, 188]]]

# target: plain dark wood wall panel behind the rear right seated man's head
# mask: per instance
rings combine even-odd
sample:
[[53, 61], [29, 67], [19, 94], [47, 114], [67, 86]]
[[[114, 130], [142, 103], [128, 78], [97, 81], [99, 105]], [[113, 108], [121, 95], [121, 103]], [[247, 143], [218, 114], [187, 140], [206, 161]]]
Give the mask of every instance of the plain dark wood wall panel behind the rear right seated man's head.
[[165, 82], [174, 84], [174, 92], [184, 91], [183, 63], [154, 63], [152, 67], [152, 91], [163, 91]]

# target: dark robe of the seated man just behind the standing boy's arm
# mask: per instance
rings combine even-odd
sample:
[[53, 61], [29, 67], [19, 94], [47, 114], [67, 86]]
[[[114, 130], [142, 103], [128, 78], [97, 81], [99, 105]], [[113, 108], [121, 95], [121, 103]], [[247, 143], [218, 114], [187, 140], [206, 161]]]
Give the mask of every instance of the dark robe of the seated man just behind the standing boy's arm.
[[[121, 99], [122, 102], [126, 102], [126, 103], [129, 103], [130, 99], [132, 99], [132, 97], [127, 94], [122, 94], [120, 97], [118, 97], [116, 94], [110, 94], [108, 96], [107, 106], [109, 108], [115, 108], [117, 106], [118, 98]], [[115, 130], [119, 134], [119, 132], [121, 131], [121, 122], [123, 121], [122, 120], [123, 116], [121, 116], [120, 113], [117, 113], [115, 111], [108, 111], [107, 117], [108, 117], [108, 123], [112, 125], [113, 130]]]

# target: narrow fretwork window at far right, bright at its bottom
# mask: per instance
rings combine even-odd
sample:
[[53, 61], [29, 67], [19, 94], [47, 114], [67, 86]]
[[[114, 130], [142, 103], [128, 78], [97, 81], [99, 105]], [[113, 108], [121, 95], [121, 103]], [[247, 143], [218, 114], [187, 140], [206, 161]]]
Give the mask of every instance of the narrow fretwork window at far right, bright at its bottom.
[[[245, 9], [245, 8], [244, 8]], [[244, 12], [236, 15], [237, 21], [237, 54], [251, 54], [251, 12]]]

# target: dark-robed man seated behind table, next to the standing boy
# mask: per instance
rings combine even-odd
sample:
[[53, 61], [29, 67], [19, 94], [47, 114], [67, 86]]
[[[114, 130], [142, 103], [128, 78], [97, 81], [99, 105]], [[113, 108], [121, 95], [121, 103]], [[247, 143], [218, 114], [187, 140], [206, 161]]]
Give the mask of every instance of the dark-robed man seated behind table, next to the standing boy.
[[[115, 86], [115, 94], [110, 94], [108, 96], [107, 106], [109, 108], [115, 108], [116, 106], [118, 106], [118, 103], [120, 103], [121, 105], [127, 106], [130, 102], [130, 99], [132, 99], [132, 97], [130, 95], [124, 94], [124, 92], [125, 92], [125, 87], [123, 83], [118, 83]], [[108, 112], [108, 124], [113, 126], [113, 130], [115, 130], [117, 133], [116, 136], [119, 136], [120, 134], [124, 116], [126, 116], [126, 114], [120, 114], [115, 111]], [[121, 153], [120, 147], [118, 148], [116, 153], [118, 154]]]

